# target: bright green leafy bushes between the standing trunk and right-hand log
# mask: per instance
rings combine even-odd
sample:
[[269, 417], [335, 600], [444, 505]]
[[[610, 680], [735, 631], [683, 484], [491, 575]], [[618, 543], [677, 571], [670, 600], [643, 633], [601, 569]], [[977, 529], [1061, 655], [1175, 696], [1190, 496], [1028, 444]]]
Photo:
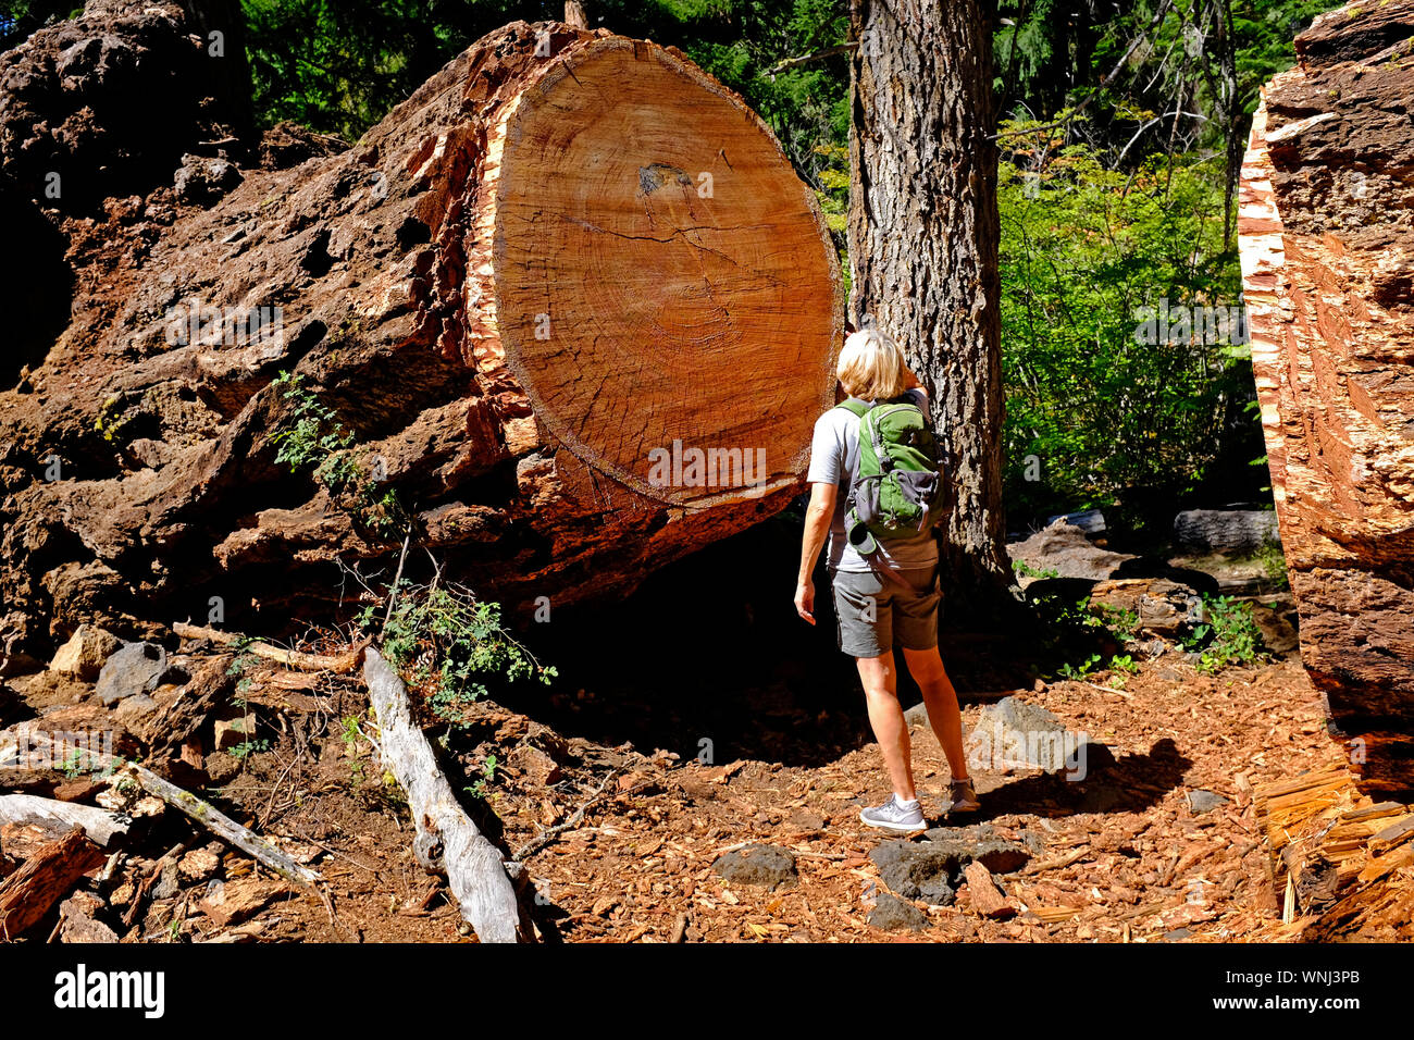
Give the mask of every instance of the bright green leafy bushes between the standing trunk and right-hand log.
[[[1051, 132], [1028, 134], [1045, 150]], [[1217, 457], [1232, 402], [1253, 393], [1240, 345], [1135, 334], [1164, 301], [1241, 303], [1222, 188], [1202, 163], [1155, 157], [1124, 174], [1079, 144], [1031, 170], [1019, 140], [998, 187], [1008, 511], [1168, 505]]]

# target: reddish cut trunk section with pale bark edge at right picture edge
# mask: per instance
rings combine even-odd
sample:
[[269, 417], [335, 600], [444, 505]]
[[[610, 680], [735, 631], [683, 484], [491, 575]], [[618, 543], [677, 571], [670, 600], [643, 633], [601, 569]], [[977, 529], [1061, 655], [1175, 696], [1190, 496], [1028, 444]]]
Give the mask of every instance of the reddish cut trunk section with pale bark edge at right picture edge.
[[1243, 294], [1301, 655], [1362, 787], [1414, 791], [1414, 1], [1297, 38], [1243, 164]]

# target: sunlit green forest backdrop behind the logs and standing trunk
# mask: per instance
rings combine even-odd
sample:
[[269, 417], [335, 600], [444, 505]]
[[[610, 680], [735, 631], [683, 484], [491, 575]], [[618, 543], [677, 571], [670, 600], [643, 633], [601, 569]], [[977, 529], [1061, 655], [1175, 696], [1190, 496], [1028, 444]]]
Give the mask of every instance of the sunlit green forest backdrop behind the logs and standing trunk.
[[[1001, 0], [1007, 509], [1270, 501], [1240, 320], [1236, 178], [1261, 85], [1331, 0]], [[243, 0], [256, 110], [355, 141], [527, 0]], [[0, 3], [0, 47], [72, 0]], [[820, 195], [847, 260], [847, 0], [588, 0], [740, 92]], [[847, 269], [847, 262], [846, 262]], [[1196, 310], [1195, 310], [1196, 308]], [[1155, 314], [1161, 318], [1155, 320]], [[1230, 318], [1230, 320], [1229, 320]], [[1145, 324], [1150, 335], [1144, 335]]]

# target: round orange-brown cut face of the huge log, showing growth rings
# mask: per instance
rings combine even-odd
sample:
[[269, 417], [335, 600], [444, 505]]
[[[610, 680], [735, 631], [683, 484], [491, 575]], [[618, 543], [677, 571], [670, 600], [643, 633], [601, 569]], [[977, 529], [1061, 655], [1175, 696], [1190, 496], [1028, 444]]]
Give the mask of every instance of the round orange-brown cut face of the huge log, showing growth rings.
[[479, 357], [505, 358], [556, 441], [650, 499], [793, 487], [833, 403], [837, 311], [805, 188], [759, 120], [667, 51], [605, 37], [491, 134]]

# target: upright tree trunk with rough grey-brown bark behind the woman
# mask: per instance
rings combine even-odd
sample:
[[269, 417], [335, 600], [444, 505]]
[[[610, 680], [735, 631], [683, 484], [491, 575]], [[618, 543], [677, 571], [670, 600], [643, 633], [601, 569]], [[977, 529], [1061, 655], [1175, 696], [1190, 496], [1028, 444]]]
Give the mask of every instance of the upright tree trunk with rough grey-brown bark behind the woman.
[[953, 454], [945, 583], [1005, 599], [997, 147], [977, 0], [851, 0], [851, 311], [895, 337]]

